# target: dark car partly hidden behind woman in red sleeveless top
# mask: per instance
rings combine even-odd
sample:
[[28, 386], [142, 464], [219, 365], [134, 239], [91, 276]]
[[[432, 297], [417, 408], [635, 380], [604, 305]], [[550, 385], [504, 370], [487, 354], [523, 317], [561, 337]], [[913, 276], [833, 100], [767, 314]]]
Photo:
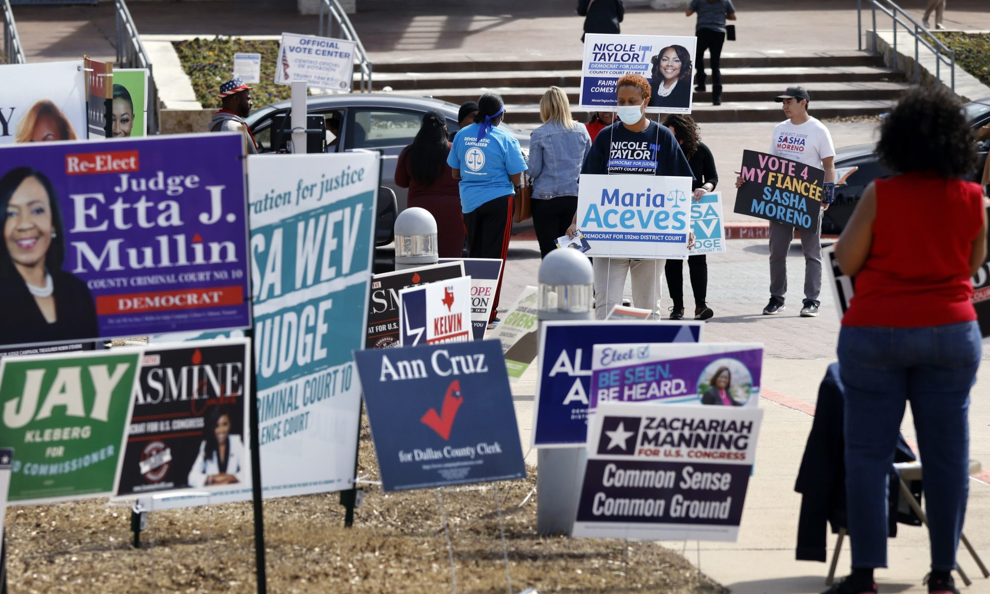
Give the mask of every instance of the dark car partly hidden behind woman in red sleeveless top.
[[[990, 97], [972, 101], [963, 106], [973, 130], [990, 124]], [[990, 141], [980, 143], [978, 167], [969, 177], [978, 181], [986, 161]], [[887, 177], [892, 172], [880, 162], [876, 144], [856, 145], [836, 150], [836, 202], [822, 219], [823, 234], [840, 234], [848, 223], [863, 189], [877, 177]]]

